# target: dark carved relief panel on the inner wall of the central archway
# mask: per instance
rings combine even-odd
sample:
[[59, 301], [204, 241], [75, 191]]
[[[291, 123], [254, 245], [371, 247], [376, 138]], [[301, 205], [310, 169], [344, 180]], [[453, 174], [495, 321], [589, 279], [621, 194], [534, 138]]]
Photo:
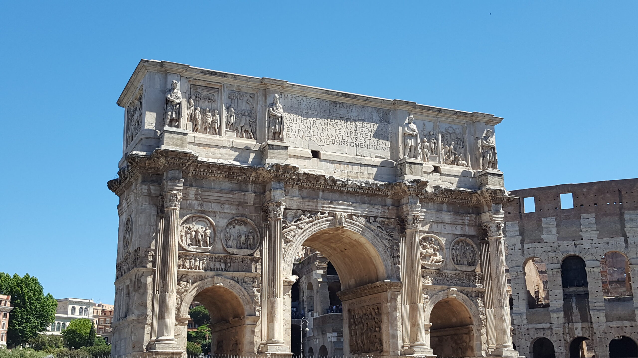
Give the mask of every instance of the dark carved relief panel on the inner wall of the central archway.
[[383, 351], [381, 305], [372, 304], [348, 310], [350, 319], [350, 353]]

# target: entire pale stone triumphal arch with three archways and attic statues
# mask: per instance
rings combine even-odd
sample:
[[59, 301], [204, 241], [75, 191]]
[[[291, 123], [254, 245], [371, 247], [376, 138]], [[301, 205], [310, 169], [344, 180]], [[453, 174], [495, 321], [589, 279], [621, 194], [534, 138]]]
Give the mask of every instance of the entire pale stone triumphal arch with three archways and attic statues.
[[215, 353], [290, 356], [312, 248], [341, 281], [343, 354], [518, 355], [502, 118], [145, 60], [117, 103], [113, 354], [185, 355], [197, 301]]

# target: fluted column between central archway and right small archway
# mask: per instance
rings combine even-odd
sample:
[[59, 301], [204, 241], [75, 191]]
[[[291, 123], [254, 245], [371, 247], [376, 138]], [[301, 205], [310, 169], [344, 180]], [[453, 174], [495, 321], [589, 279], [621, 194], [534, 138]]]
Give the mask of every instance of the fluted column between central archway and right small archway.
[[410, 307], [410, 347], [407, 354], [425, 354], [426, 333], [423, 317], [423, 296], [421, 285], [421, 259], [419, 225], [421, 220], [421, 206], [418, 197], [408, 198], [409, 204], [404, 205], [405, 220], [405, 260], [401, 262], [406, 266], [406, 276], [402, 278], [406, 285], [404, 294], [407, 295], [407, 303]]

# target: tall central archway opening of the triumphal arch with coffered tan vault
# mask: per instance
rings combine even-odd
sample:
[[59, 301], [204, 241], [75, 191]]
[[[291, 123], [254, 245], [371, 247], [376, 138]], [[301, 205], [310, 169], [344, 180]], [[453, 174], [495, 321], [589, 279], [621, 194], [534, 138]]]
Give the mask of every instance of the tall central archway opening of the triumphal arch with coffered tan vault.
[[[313, 352], [318, 356], [381, 353], [381, 305], [347, 311], [344, 307], [348, 303], [342, 303], [339, 297], [342, 289], [352, 290], [387, 278], [376, 248], [361, 234], [344, 228], [318, 231], [302, 245], [302, 254], [293, 264], [299, 276], [299, 301], [292, 324], [299, 327], [295, 329], [300, 335], [291, 334], [291, 339], [301, 337], [306, 356]], [[366, 324], [359, 320], [366, 320]]]

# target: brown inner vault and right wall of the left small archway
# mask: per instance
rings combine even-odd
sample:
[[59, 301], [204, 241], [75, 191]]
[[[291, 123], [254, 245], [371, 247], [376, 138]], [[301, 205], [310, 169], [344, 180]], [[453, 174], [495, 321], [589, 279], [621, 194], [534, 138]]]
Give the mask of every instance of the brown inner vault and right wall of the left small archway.
[[251, 353], [255, 326], [246, 324], [244, 304], [235, 292], [223, 285], [213, 285], [200, 291], [195, 301], [204, 305], [211, 317], [209, 354]]

